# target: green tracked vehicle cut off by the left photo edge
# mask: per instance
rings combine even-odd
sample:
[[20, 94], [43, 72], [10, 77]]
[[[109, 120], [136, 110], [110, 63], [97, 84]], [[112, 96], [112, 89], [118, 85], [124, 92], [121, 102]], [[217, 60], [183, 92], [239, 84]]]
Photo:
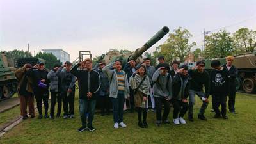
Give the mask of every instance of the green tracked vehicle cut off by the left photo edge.
[[0, 54], [0, 100], [8, 99], [16, 93], [18, 81], [15, 78], [15, 68], [9, 67], [6, 54]]

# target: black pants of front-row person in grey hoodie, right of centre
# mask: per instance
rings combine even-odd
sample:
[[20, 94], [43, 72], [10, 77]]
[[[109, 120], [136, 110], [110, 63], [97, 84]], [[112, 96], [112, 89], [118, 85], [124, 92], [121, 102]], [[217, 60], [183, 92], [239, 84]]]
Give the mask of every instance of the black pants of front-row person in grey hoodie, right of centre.
[[[169, 100], [166, 100], [165, 97], [154, 97], [155, 99], [155, 105], [156, 105], [156, 120], [167, 120], [167, 117], [170, 113], [170, 102]], [[164, 113], [163, 117], [162, 115], [162, 105], [164, 104]]]

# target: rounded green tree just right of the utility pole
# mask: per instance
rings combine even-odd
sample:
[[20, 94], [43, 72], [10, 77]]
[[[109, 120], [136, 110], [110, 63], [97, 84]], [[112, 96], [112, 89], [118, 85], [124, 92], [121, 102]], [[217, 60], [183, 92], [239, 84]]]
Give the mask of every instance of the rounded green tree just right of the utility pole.
[[230, 33], [226, 29], [220, 30], [205, 37], [206, 48], [202, 54], [204, 58], [224, 58], [234, 53], [232, 44]]

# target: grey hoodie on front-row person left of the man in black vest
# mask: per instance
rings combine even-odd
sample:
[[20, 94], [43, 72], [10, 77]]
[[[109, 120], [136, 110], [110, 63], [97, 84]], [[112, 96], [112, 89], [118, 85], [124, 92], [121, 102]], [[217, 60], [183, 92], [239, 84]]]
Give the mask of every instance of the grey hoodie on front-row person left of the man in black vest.
[[153, 74], [152, 81], [155, 83], [153, 97], [168, 97], [169, 100], [172, 99], [172, 76], [170, 74], [167, 73], [163, 76], [161, 70], [157, 69]]

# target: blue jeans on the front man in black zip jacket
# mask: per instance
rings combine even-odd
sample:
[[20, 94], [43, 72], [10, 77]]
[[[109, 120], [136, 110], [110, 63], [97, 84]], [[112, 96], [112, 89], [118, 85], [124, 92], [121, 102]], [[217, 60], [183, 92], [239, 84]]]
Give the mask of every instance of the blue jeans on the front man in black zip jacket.
[[82, 121], [82, 126], [86, 127], [86, 113], [88, 110], [88, 127], [92, 125], [94, 110], [96, 106], [96, 99], [93, 100], [85, 100], [79, 99], [79, 108], [80, 108], [80, 118]]

